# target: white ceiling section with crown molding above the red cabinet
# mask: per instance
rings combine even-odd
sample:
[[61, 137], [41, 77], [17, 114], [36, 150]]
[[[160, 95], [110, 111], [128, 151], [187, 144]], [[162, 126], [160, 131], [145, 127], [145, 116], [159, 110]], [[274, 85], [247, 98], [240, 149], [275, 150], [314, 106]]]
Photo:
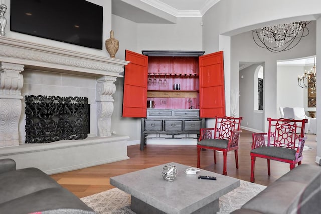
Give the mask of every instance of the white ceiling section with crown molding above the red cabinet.
[[220, 0], [112, 0], [112, 14], [136, 23], [176, 23], [178, 17], [202, 17]]

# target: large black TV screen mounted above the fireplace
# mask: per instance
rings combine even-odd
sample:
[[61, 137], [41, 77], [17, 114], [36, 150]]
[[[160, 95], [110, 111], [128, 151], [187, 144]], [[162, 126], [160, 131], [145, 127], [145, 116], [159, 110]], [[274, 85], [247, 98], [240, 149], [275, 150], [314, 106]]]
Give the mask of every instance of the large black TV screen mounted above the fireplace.
[[10, 2], [11, 31], [102, 49], [102, 6], [85, 0]]

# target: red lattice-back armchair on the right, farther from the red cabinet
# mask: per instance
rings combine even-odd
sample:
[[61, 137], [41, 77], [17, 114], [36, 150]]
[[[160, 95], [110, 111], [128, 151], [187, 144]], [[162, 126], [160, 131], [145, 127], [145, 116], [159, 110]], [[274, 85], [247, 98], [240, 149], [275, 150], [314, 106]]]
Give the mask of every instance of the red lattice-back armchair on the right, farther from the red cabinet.
[[296, 163], [301, 164], [303, 159], [303, 147], [306, 119], [272, 119], [269, 122], [268, 133], [253, 133], [251, 150], [251, 182], [254, 182], [254, 167], [256, 157], [267, 159], [267, 172], [271, 175], [270, 160], [281, 161], [290, 164], [290, 170]]

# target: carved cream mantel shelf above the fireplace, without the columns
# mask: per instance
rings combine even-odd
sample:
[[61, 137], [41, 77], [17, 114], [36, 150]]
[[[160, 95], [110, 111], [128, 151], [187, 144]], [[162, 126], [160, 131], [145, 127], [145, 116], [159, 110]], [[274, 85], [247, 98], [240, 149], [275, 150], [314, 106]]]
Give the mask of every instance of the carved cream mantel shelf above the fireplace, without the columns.
[[7, 37], [0, 37], [0, 62], [96, 77], [122, 77], [119, 73], [123, 72], [123, 66], [129, 63]]

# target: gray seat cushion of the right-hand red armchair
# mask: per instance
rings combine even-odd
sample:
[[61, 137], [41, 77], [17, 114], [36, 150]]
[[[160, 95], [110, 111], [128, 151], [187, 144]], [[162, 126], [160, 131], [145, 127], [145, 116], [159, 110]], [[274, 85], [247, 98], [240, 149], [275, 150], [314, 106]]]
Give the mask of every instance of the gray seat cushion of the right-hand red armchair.
[[295, 160], [296, 150], [274, 146], [263, 146], [256, 149], [252, 149], [251, 153], [262, 154], [286, 160]]

